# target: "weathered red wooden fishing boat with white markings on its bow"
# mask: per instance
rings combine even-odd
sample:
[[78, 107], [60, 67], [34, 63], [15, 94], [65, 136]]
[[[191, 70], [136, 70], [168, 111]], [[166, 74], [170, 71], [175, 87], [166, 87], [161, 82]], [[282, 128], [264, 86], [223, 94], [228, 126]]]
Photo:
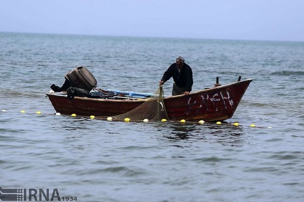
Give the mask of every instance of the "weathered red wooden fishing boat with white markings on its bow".
[[[239, 79], [240, 80], [240, 79]], [[245, 91], [253, 79], [237, 81], [191, 92], [189, 95], [166, 96], [164, 104], [170, 120], [220, 121], [232, 117]], [[111, 96], [95, 90], [93, 97], [69, 99], [65, 92], [49, 92], [56, 112], [71, 115], [109, 117], [129, 112], [141, 105], [151, 93], [105, 90]]]

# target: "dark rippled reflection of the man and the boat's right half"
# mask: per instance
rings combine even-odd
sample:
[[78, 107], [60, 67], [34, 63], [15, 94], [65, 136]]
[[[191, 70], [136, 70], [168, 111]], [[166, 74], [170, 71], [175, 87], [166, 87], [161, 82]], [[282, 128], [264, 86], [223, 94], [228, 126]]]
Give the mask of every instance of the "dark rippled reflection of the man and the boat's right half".
[[216, 142], [227, 146], [243, 146], [245, 142], [245, 132], [242, 127], [229, 125], [218, 126], [211, 123], [203, 125], [195, 123], [181, 124], [172, 122], [169, 124], [155, 124], [155, 127], [162, 127], [162, 135], [171, 141], [204, 141]]

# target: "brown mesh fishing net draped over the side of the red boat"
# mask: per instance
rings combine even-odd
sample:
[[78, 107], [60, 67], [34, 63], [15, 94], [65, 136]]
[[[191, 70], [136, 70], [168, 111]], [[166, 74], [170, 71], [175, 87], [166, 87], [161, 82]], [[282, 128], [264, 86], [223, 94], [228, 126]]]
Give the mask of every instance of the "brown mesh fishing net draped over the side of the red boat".
[[158, 90], [140, 106], [129, 112], [112, 116], [113, 120], [125, 120], [125, 118], [129, 118], [130, 121], [143, 121], [144, 119], [148, 119], [149, 121], [160, 121], [161, 119], [168, 120], [162, 86], [160, 86]]

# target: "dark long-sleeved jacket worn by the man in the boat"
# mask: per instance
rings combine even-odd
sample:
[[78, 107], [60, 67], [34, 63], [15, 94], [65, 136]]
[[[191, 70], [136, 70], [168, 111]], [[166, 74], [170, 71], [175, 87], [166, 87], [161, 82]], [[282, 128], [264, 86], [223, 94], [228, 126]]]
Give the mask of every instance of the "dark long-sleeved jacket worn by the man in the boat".
[[185, 88], [185, 90], [189, 92], [192, 90], [192, 85], [193, 85], [192, 69], [186, 63], [184, 63], [184, 65], [181, 67], [180, 73], [178, 73], [176, 63], [170, 65], [167, 71], [165, 71], [161, 80], [166, 82], [171, 77], [173, 77], [175, 84], [179, 88]]

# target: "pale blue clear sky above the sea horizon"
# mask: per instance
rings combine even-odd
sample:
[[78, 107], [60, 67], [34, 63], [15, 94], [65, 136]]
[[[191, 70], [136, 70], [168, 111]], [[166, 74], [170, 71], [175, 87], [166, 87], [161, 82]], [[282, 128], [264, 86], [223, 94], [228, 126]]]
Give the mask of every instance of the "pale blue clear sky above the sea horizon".
[[304, 0], [0, 0], [0, 32], [304, 41]]

